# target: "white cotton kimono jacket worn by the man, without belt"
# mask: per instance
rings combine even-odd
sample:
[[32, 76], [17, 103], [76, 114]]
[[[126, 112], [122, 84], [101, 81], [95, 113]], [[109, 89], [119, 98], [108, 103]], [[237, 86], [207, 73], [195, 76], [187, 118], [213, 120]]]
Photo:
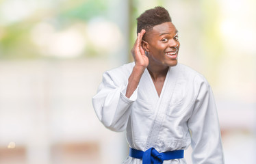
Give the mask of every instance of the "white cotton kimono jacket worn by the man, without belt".
[[[211, 87], [198, 72], [183, 64], [170, 67], [158, 96], [146, 69], [131, 98], [125, 96], [134, 63], [103, 74], [92, 98], [99, 120], [112, 131], [127, 131], [131, 148], [158, 152], [192, 146], [194, 164], [222, 164], [218, 115]], [[124, 162], [142, 163], [130, 156]], [[164, 161], [186, 163], [185, 159]]]

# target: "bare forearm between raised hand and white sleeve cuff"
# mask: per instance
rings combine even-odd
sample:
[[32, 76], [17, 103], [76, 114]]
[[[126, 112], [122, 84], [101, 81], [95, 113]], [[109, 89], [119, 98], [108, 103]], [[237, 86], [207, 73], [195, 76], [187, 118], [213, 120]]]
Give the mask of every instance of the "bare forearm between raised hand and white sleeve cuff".
[[146, 67], [142, 67], [142, 66], [133, 67], [133, 71], [131, 72], [131, 75], [128, 79], [128, 85], [127, 85], [127, 90], [125, 94], [127, 98], [130, 98], [133, 92], [138, 87], [138, 84], [140, 83], [140, 79], [145, 69]]

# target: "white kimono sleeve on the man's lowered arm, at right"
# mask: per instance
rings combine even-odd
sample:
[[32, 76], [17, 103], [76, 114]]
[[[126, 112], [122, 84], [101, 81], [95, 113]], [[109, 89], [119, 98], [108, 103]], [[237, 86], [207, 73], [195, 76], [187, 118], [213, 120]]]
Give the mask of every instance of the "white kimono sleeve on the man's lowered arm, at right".
[[220, 126], [212, 89], [206, 80], [199, 83], [199, 94], [188, 121], [192, 138], [192, 161], [196, 164], [223, 164]]

